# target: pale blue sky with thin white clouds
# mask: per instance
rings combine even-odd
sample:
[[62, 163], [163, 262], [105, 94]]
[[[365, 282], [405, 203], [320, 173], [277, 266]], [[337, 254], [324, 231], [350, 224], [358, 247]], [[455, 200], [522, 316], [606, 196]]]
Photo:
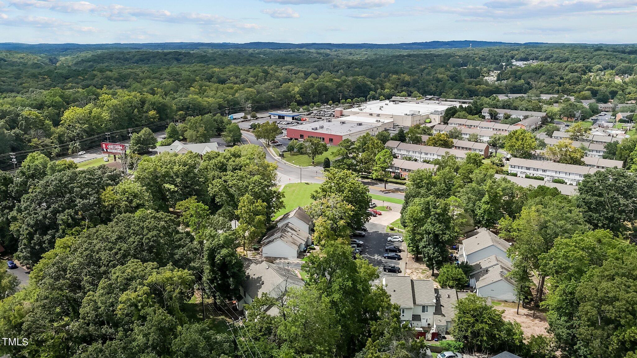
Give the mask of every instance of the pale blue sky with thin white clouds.
[[637, 0], [0, 0], [0, 42], [637, 43]]

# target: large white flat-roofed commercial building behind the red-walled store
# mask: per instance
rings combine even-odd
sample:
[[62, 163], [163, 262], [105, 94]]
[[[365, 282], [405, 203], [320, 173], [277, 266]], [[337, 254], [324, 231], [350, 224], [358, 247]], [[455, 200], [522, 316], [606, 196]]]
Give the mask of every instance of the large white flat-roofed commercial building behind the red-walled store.
[[[411, 127], [415, 124], [425, 124], [427, 119], [432, 124], [439, 123], [445, 110], [458, 104], [457, 102], [427, 101], [424, 99], [415, 102], [371, 101], [359, 107], [342, 110], [342, 114], [387, 118], [394, 120], [397, 125]], [[335, 111], [336, 117], [340, 113], [340, 111]]]

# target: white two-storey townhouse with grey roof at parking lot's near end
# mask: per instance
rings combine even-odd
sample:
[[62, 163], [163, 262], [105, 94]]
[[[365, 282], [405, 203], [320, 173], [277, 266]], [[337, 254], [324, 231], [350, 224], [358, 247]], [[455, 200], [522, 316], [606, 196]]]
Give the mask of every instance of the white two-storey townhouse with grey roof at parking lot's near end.
[[399, 306], [400, 319], [412, 327], [434, 326], [436, 292], [431, 280], [412, 280], [409, 276], [385, 276], [383, 288], [392, 303]]

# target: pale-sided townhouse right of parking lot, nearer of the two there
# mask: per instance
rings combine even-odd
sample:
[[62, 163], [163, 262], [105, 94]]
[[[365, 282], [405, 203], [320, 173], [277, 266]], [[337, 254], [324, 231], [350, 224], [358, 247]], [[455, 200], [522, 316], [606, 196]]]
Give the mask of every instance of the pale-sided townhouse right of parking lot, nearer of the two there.
[[506, 276], [512, 269], [511, 262], [501, 257], [485, 257], [473, 264], [473, 271], [469, 274], [469, 286], [481, 297], [517, 301], [515, 283]]

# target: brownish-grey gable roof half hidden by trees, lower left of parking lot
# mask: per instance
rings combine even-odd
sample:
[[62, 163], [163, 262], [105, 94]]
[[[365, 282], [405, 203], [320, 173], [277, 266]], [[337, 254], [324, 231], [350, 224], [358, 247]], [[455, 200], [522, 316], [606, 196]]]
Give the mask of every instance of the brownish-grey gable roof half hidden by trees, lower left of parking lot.
[[267, 293], [271, 297], [278, 298], [290, 287], [303, 287], [304, 282], [294, 271], [266, 261], [254, 261], [247, 257], [241, 257], [243, 269], [245, 269], [245, 279], [243, 280], [243, 290], [252, 299], [261, 297]]

